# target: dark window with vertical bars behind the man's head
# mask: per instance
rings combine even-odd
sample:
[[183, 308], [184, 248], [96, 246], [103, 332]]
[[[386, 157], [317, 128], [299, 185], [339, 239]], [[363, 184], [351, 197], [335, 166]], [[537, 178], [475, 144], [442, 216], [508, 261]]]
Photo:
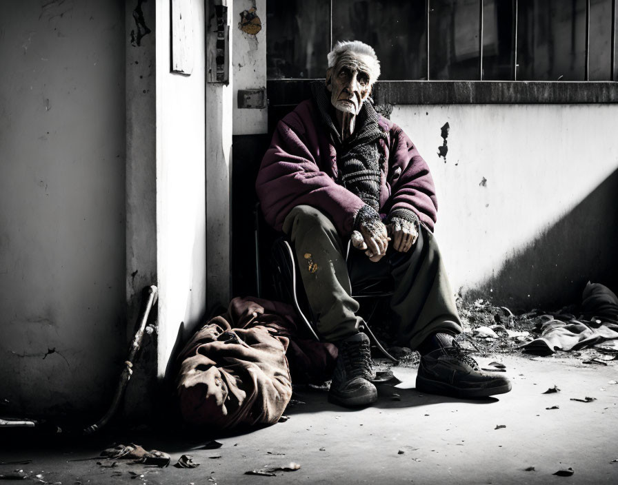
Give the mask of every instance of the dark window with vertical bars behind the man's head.
[[617, 0], [267, 0], [269, 79], [317, 79], [337, 40], [382, 81], [615, 81]]

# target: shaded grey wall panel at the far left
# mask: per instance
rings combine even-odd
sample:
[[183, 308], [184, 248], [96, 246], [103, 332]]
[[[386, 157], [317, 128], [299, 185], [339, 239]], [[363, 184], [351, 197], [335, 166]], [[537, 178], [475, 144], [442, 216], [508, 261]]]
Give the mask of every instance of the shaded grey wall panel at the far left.
[[126, 352], [124, 3], [0, 3], [0, 399], [106, 406]]

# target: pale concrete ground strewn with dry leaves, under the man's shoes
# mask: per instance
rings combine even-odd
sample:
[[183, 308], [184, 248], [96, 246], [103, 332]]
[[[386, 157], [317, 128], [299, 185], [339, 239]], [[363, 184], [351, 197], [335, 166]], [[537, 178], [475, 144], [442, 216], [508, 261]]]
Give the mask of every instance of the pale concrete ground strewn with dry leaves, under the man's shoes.
[[[306, 404], [290, 409], [287, 422], [219, 438], [219, 449], [191, 449], [200, 444], [166, 442], [156, 435], [135, 440], [168, 451], [172, 463], [190, 453], [197, 468], [150, 468], [123, 460], [102, 468], [97, 460], [67, 461], [98, 455], [101, 446], [90, 442], [32, 453], [2, 451], [0, 462], [32, 462], [0, 465], [0, 474], [23, 469], [31, 477], [40, 473], [43, 482], [64, 485], [618, 483], [618, 462], [612, 462], [618, 460], [618, 384], [609, 383], [618, 380], [616, 364], [518, 356], [477, 360], [481, 366], [492, 360], [506, 364], [513, 390], [479, 402], [421, 395], [414, 389], [415, 369], [397, 367], [403, 383], [381, 386], [377, 404], [367, 409], [339, 408], [328, 403], [326, 391], [307, 388], [299, 391]], [[542, 394], [554, 385], [559, 393]], [[401, 400], [393, 400], [393, 393]], [[596, 400], [570, 400], [586, 396]], [[550, 406], [559, 409], [547, 410]], [[301, 468], [275, 477], [244, 475], [290, 462]], [[535, 471], [526, 471], [529, 466]], [[552, 475], [568, 467], [575, 470], [571, 477]], [[143, 477], [132, 478], [130, 472]]]

